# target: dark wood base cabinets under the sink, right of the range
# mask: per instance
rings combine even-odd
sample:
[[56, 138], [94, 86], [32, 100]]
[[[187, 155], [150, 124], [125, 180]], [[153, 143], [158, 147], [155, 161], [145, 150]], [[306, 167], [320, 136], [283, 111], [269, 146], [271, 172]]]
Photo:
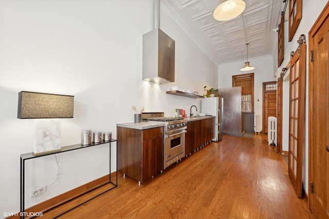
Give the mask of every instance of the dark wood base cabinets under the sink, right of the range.
[[185, 155], [196, 151], [214, 137], [215, 118], [206, 118], [187, 123], [185, 135]]

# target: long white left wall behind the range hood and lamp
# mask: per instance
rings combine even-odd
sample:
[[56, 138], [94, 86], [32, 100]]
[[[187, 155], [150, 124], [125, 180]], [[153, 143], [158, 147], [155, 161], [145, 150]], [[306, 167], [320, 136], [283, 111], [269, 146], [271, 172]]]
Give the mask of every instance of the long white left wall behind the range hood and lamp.
[[[216, 78], [217, 66], [162, 13], [160, 27], [176, 44], [175, 82], [142, 81], [142, 34], [153, 28], [152, 0], [0, 1], [0, 26], [0, 212], [19, 211], [19, 158], [33, 147], [34, 121], [17, 119], [21, 90], [75, 96], [74, 118], [61, 120], [65, 146], [80, 143], [82, 129], [116, 138], [116, 124], [134, 119], [132, 105], [165, 116], [174, 108], [200, 109], [200, 100], [166, 91], [178, 85], [202, 95]], [[58, 155], [60, 181], [39, 198], [27, 195], [26, 207], [105, 175], [107, 154], [102, 146]], [[53, 155], [27, 165], [27, 190], [51, 184], [58, 171]]]

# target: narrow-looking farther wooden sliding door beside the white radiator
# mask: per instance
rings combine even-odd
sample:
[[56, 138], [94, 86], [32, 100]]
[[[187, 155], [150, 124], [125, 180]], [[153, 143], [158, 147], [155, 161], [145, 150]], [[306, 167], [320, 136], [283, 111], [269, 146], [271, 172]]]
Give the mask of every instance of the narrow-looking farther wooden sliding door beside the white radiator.
[[277, 150], [278, 153], [282, 153], [282, 92], [283, 92], [283, 78], [278, 81], [277, 87], [277, 124], [278, 124], [278, 136], [277, 136]]

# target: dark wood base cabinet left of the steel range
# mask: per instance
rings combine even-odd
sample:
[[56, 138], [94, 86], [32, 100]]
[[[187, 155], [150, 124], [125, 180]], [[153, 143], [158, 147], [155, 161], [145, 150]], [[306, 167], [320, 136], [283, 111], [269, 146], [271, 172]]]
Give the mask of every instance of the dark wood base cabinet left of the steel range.
[[131, 129], [117, 126], [118, 171], [139, 182], [163, 170], [163, 127]]

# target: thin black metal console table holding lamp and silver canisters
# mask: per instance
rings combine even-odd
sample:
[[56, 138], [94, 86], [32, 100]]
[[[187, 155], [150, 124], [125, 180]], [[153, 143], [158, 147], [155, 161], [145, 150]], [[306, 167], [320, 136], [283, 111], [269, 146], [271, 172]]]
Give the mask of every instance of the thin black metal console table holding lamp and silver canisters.
[[[114, 185], [114, 187], [112, 188], [109, 188], [107, 189], [106, 191], [92, 197], [92, 198], [89, 198], [88, 200], [86, 200], [85, 202], [75, 206], [74, 208], [80, 206], [80, 205], [83, 205], [85, 204], [86, 202], [88, 202], [89, 200], [92, 200], [93, 198], [109, 191], [109, 190], [112, 190], [116, 187], [118, 187], [118, 144], [116, 143], [116, 163], [117, 163], [117, 167], [116, 167], [116, 182], [114, 183], [113, 181], [111, 181], [111, 144], [113, 142], [117, 142], [116, 139], [112, 139], [111, 141], [106, 141], [106, 142], [100, 142], [100, 143], [92, 143], [92, 144], [88, 144], [88, 145], [82, 145], [82, 144], [75, 144], [75, 145], [69, 145], [69, 146], [65, 146], [65, 147], [62, 147], [61, 148], [61, 151], [56, 151], [56, 152], [51, 152], [51, 153], [48, 153], [48, 154], [41, 154], [41, 155], [33, 155], [33, 153], [27, 153], [27, 154], [21, 154], [21, 211], [20, 212], [23, 212], [22, 214], [20, 214], [21, 218], [25, 218], [25, 161], [28, 160], [28, 159], [34, 159], [34, 158], [38, 158], [38, 157], [43, 157], [43, 156], [48, 156], [48, 155], [52, 155], [52, 154], [59, 154], [59, 153], [64, 153], [64, 152], [68, 152], [68, 151], [73, 151], [73, 150], [79, 150], [79, 149], [84, 149], [84, 148], [89, 148], [89, 147], [95, 147], [97, 145], [100, 145], [100, 144], [109, 144], [109, 179], [108, 181], [105, 183], [105, 184], [102, 184], [102, 185], [99, 185], [98, 187], [92, 189], [92, 190], [88, 190], [86, 192], [84, 192], [83, 194], [87, 193], [87, 192], [90, 192], [90, 191], [93, 191], [101, 186], [104, 186], [104, 185], [107, 185], [107, 184], [112, 184]], [[74, 208], [71, 208], [63, 213], [62, 214], [65, 214], [67, 213], [68, 211], [74, 209]]]

